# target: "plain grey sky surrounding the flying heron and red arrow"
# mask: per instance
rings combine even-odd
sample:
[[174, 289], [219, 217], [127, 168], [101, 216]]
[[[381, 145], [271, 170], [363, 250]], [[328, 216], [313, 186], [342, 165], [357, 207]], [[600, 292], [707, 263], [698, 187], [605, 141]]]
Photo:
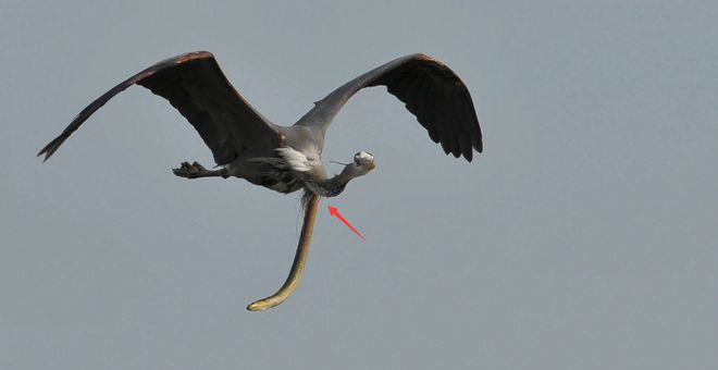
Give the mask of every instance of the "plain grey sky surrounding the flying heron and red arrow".
[[[0, 2], [0, 368], [716, 369], [715, 1]], [[265, 116], [395, 57], [467, 83], [485, 153], [443, 155], [383, 89], [324, 159], [377, 168], [324, 199], [301, 286], [298, 196], [211, 163], [145, 66], [212, 51]], [[361, 242], [326, 206], [338, 207]]]

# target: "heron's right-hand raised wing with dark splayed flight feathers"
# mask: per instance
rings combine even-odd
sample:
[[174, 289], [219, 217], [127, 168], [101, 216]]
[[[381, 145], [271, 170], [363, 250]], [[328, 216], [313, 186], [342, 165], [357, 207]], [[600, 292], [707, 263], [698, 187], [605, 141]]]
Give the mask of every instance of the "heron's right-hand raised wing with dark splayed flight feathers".
[[371, 70], [314, 103], [296, 124], [326, 133], [342, 107], [364, 87], [386, 86], [426, 128], [434, 143], [454, 157], [471, 161], [481, 152], [481, 128], [469, 89], [444, 63], [426, 54], [410, 54]]

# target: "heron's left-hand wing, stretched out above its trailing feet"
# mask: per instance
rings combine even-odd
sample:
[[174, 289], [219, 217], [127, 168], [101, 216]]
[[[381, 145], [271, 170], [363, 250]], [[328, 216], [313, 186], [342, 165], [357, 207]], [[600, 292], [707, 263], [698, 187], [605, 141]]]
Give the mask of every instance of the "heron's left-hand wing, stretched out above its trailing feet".
[[120, 83], [79, 112], [38, 156], [50, 158], [95, 111], [135, 84], [168, 99], [195, 126], [218, 164], [244, 150], [277, 146], [274, 125], [232, 87], [210, 52], [198, 51], [163, 60]]

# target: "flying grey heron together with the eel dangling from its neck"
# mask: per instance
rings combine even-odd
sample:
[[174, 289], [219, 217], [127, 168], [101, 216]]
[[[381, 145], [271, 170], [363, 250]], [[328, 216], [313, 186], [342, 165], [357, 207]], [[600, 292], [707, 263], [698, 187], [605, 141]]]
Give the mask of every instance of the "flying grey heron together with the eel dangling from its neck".
[[195, 127], [212, 151], [215, 166], [182, 162], [173, 173], [185, 178], [238, 177], [278, 193], [304, 190], [304, 223], [294, 262], [275, 294], [247, 306], [264, 310], [282, 304], [298, 286], [309, 252], [320, 197], [335, 197], [349, 181], [374, 169], [368, 151], [354, 155], [335, 175], [321, 155], [324, 137], [342, 107], [359, 90], [385, 86], [441, 144], [446, 155], [471, 162], [482, 152], [482, 134], [467, 86], [446, 64], [424, 53], [394, 59], [331, 91], [294, 125], [278, 125], [252, 108], [230, 84], [214, 55], [195, 51], [169, 58], [121, 82], [94, 100], [38, 157], [47, 161], [100, 107], [139, 85], [166, 99]]

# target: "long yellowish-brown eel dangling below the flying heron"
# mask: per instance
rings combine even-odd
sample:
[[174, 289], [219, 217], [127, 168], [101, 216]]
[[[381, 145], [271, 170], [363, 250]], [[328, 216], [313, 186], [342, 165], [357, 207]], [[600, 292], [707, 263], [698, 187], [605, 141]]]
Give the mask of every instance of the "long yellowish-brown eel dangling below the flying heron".
[[317, 217], [317, 209], [319, 208], [319, 196], [312, 195], [307, 203], [307, 210], [305, 212], [305, 223], [301, 225], [301, 235], [299, 236], [299, 245], [297, 246], [297, 252], [294, 256], [294, 263], [292, 263], [292, 270], [289, 270], [289, 275], [287, 276], [284, 285], [274, 293], [274, 295], [269, 296], [264, 299], [259, 299], [251, 305], [247, 306], [247, 309], [250, 311], [265, 310], [283, 303], [289, 295], [297, 288], [299, 281], [301, 280], [301, 274], [305, 271], [305, 264], [307, 263], [307, 256], [309, 256], [309, 244], [311, 242], [311, 233], [314, 229], [314, 219]]

